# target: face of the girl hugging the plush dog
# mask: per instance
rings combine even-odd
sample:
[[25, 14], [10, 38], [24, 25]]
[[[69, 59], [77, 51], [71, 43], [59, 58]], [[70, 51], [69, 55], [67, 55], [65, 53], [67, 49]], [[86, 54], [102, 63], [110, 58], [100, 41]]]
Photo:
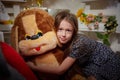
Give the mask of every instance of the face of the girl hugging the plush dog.
[[61, 44], [69, 42], [73, 35], [73, 27], [66, 20], [62, 20], [57, 30], [57, 37]]

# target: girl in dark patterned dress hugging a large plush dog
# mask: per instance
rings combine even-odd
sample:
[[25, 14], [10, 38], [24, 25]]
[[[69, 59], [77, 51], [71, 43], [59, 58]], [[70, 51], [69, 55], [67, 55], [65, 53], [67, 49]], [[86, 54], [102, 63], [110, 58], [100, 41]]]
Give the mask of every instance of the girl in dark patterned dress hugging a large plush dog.
[[58, 67], [35, 66], [28, 62], [33, 70], [61, 75], [76, 63], [88, 78], [93, 76], [94, 80], [120, 79], [120, 57], [108, 46], [77, 34], [78, 22], [74, 14], [59, 12], [54, 24], [66, 57]]

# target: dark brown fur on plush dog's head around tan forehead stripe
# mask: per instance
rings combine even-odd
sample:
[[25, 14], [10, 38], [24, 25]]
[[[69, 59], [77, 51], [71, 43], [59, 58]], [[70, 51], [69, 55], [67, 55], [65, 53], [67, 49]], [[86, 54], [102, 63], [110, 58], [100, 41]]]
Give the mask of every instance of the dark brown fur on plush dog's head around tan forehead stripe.
[[15, 21], [14, 21], [14, 25], [12, 28], [12, 45], [14, 46], [14, 42], [15, 42], [15, 28], [16, 26], [18, 26], [18, 42], [20, 40], [24, 40], [25, 39], [25, 31], [23, 28], [23, 23], [21, 18], [26, 16], [26, 15], [30, 15], [30, 14], [35, 14], [36, 15], [36, 23], [38, 28], [44, 33], [50, 31], [54, 25], [54, 19], [52, 16], [50, 16], [46, 11], [44, 10], [38, 10], [38, 9], [30, 9], [30, 10], [25, 10], [22, 11], [20, 14], [18, 14], [18, 16], [16, 17]]

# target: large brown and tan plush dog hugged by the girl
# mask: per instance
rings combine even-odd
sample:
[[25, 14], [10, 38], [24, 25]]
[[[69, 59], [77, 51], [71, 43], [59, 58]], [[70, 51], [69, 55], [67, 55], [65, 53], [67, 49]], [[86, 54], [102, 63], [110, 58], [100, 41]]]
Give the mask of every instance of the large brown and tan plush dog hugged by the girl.
[[53, 27], [54, 18], [46, 11], [24, 10], [15, 18], [11, 44], [22, 56], [32, 56], [36, 66], [59, 66], [64, 54]]

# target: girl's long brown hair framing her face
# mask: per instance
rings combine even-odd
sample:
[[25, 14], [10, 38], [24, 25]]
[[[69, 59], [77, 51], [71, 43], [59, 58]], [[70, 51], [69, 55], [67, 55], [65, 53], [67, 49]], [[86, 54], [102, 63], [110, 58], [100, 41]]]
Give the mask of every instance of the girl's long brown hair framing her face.
[[71, 41], [69, 43], [67, 43], [67, 46], [65, 46], [64, 52], [65, 52], [65, 56], [67, 56], [67, 54], [69, 54], [70, 50], [71, 50], [71, 43], [78, 32], [78, 20], [77, 20], [77, 17], [73, 13], [70, 13], [66, 10], [59, 12], [55, 16], [55, 22], [54, 22], [55, 32], [57, 32], [62, 20], [68, 21], [73, 26], [73, 29], [74, 29]]

